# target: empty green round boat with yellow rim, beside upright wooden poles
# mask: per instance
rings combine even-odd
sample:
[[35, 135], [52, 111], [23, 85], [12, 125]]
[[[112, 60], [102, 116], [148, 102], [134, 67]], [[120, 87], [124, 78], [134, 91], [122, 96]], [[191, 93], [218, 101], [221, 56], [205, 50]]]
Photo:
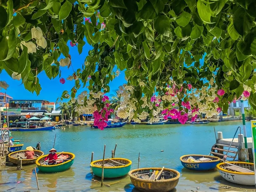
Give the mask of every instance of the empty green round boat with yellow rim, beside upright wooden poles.
[[[125, 176], [131, 169], [132, 162], [124, 158], [108, 158], [104, 160], [104, 178], [118, 178]], [[93, 174], [101, 177], [102, 159], [91, 162]]]

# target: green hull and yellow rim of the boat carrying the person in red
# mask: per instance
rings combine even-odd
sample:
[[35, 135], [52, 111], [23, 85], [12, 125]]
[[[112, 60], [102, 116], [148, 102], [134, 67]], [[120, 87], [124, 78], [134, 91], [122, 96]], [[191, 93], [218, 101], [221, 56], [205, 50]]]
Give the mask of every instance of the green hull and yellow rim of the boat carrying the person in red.
[[[60, 153], [57, 153], [57, 155]], [[62, 152], [62, 155], [68, 155], [70, 159], [63, 161], [62, 163], [58, 163], [56, 165], [41, 165], [42, 162], [44, 162], [44, 158], [47, 157], [47, 155], [44, 155], [40, 158], [38, 158], [35, 163], [38, 167], [38, 169], [43, 173], [56, 173], [60, 171], [65, 171], [68, 168], [71, 167], [71, 165], [74, 163], [75, 154], [68, 153], [68, 152]]]

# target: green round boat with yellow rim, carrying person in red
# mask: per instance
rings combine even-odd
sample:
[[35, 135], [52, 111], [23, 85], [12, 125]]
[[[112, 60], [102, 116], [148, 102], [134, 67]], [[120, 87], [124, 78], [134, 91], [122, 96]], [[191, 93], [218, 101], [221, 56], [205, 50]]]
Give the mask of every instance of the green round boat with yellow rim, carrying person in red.
[[35, 163], [38, 167], [38, 169], [43, 173], [56, 173], [60, 171], [65, 171], [71, 167], [74, 163], [75, 154], [68, 153], [68, 152], [62, 152], [57, 153], [58, 159], [56, 160], [56, 165], [47, 165], [44, 162], [44, 158], [47, 157], [47, 155], [44, 155], [40, 158], [38, 158]]

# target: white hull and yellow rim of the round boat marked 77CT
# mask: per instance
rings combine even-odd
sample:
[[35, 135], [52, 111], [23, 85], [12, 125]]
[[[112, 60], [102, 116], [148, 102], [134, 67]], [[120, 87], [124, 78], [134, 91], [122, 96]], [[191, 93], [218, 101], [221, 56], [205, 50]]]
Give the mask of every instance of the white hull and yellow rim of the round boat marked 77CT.
[[[253, 163], [245, 163], [245, 162], [229, 162], [231, 164], [248, 164], [251, 166], [254, 166]], [[221, 174], [221, 177], [223, 177], [225, 180], [232, 182], [232, 183], [236, 183], [239, 185], [255, 185], [255, 176], [254, 173], [236, 173], [233, 171], [229, 171], [229, 170], [224, 170], [222, 168], [222, 165], [224, 165], [224, 163], [219, 163], [217, 165], [217, 169], [219, 171], [219, 173]]]

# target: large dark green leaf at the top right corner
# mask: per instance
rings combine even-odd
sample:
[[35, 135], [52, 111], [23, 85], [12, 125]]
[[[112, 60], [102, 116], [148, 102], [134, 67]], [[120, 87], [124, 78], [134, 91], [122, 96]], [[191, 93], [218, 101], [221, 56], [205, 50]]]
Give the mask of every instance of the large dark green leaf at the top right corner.
[[253, 26], [253, 21], [254, 18], [252, 18], [242, 7], [238, 8], [233, 14], [234, 27], [239, 35], [243, 37], [250, 32]]

